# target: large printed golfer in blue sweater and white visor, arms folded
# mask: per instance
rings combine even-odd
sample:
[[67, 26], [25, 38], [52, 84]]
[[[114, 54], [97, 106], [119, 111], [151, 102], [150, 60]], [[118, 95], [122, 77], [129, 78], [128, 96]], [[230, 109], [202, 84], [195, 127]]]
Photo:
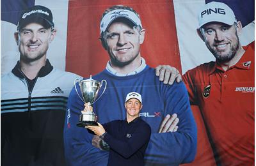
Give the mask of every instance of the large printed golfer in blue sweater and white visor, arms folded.
[[[144, 41], [140, 16], [128, 6], [112, 6], [100, 21], [100, 39], [108, 51], [106, 70], [93, 76], [106, 80], [106, 91], [93, 103], [99, 123], [125, 119], [125, 95], [131, 91], [143, 94], [140, 118], [151, 128], [152, 135], [145, 152], [145, 165], [179, 165], [192, 162], [196, 154], [196, 124], [190, 109], [188, 92], [183, 82], [172, 86], [159, 81], [156, 70], [141, 57]], [[79, 86], [75, 86], [79, 89]], [[80, 87], [81, 88], [81, 87]], [[103, 89], [99, 93], [102, 94]], [[79, 94], [83, 93], [78, 90]], [[86, 102], [86, 101], [84, 101]], [[73, 88], [68, 98], [65, 121], [65, 156], [68, 165], [107, 165], [109, 152], [92, 144], [97, 136], [77, 127], [84, 102]], [[164, 117], [170, 121], [163, 121]], [[178, 123], [179, 128], [175, 128]], [[175, 120], [176, 119], [176, 120]], [[162, 122], [163, 121], [163, 122]], [[165, 130], [159, 130], [161, 126]], [[172, 124], [172, 125], [171, 125]], [[169, 127], [170, 125], [170, 127]], [[173, 127], [174, 126], [174, 127]], [[111, 148], [111, 145], [110, 145]]]

